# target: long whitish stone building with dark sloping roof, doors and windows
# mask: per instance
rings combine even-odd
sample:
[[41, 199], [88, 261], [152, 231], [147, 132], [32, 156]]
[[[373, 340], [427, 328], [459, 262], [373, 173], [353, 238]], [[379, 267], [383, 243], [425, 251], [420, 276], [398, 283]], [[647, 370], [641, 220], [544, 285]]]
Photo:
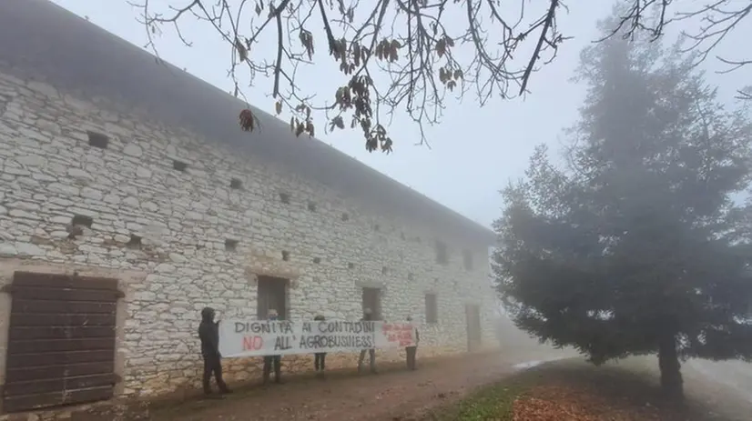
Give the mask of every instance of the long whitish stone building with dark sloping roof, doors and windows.
[[0, 2], [0, 39], [0, 414], [197, 386], [203, 306], [494, 345], [487, 228], [260, 111], [241, 132], [239, 101], [46, 0]]

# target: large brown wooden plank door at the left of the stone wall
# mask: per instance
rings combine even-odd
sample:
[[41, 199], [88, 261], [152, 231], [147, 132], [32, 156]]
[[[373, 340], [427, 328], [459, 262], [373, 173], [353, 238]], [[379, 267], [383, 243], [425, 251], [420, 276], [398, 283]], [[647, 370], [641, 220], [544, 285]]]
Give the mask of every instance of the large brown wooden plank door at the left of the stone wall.
[[117, 279], [16, 272], [3, 411], [113, 396]]

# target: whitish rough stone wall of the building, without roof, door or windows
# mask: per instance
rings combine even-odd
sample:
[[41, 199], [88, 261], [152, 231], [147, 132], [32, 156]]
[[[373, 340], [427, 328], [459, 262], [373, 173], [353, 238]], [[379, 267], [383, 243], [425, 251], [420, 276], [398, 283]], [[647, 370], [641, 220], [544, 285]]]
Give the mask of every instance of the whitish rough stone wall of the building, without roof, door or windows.
[[[357, 319], [361, 286], [379, 286], [386, 319], [421, 324], [422, 355], [465, 350], [464, 305], [479, 304], [483, 343], [494, 345], [486, 245], [444, 238], [420, 216], [378, 215], [285, 168], [117, 108], [0, 73], [0, 285], [24, 266], [117, 276], [126, 293], [121, 396], [195, 386], [199, 310], [255, 316], [259, 275], [290, 278], [291, 319]], [[89, 145], [89, 131], [106, 135], [107, 147]], [[70, 239], [74, 216], [93, 224]], [[436, 263], [436, 240], [449, 247], [447, 265]], [[428, 291], [438, 295], [437, 324], [424, 323]], [[0, 384], [9, 302], [0, 293]], [[292, 371], [310, 367], [286, 360]], [[231, 378], [258, 375], [257, 361], [229, 365]]]

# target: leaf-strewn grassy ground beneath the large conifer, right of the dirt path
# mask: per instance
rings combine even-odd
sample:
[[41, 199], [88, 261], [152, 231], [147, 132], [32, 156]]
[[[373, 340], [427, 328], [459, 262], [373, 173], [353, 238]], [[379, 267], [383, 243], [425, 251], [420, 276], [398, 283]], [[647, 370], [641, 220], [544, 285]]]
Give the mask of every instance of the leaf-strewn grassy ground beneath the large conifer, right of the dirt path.
[[[691, 387], [690, 387], [691, 389]], [[720, 393], [723, 395], [722, 393]], [[459, 404], [428, 414], [434, 421], [727, 421], [691, 393], [684, 405], [663, 399], [655, 361], [607, 366], [579, 359], [544, 364], [483, 387]]]

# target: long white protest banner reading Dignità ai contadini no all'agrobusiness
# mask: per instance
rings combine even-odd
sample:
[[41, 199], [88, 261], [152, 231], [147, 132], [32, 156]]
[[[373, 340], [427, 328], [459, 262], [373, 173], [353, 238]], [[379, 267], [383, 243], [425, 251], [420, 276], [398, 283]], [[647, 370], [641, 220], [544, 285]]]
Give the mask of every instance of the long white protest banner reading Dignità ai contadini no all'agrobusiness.
[[219, 323], [219, 352], [225, 357], [358, 352], [413, 345], [415, 328], [409, 323], [339, 320]]

